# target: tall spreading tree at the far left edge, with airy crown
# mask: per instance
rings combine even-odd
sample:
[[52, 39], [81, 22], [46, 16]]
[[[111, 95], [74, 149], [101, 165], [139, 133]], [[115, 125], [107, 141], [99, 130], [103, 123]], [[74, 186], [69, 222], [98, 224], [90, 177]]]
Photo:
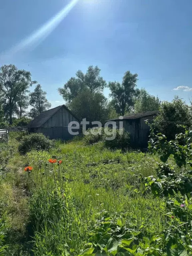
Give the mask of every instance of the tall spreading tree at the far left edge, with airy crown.
[[22, 91], [26, 90], [36, 81], [31, 80], [31, 73], [25, 70], [18, 70], [15, 65], [4, 65], [0, 68], [0, 91], [6, 97], [5, 110], [9, 120], [12, 124], [12, 117], [15, 106], [20, 99]]

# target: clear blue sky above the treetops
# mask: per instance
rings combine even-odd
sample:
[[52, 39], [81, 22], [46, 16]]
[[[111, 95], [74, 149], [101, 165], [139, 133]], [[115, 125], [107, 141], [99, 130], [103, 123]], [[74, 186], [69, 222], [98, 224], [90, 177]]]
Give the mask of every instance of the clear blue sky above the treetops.
[[[63, 102], [57, 88], [89, 65], [98, 65], [106, 81], [121, 81], [130, 70], [138, 74], [139, 88], [161, 100], [178, 94], [189, 102], [191, 0], [76, 0], [49, 35], [21, 44], [71, 2], [2, 1], [0, 66], [30, 71], [52, 107]], [[108, 96], [108, 89], [104, 93]]]

